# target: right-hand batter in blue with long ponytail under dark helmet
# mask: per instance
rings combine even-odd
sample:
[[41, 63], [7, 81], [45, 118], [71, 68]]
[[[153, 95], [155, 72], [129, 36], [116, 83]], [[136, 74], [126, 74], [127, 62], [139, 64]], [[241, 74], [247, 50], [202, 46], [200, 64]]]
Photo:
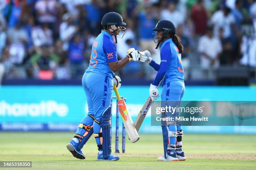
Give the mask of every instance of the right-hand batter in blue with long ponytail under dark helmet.
[[[141, 52], [141, 55], [146, 55], [146, 60], [151, 67], [158, 71], [154, 82], [150, 85], [149, 94], [156, 100], [159, 97], [159, 91], [157, 87], [161, 80], [162, 82], [162, 105], [164, 101], [174, 101], [174, 107], [176, 104], [178, 107], [181, 104], [182, 97], [184, 95], [184, 71], [181, 62], [181, 53], [183, 52], [183, 46], [180, 39], [175, 35], [176, 30], [173, 23], [169, 20], [161, 20], [156, 24], [153, 34], [154, 42], [158, 43], [156, 49], [160, 43], [161, 50], [161, 63], [157, 64], [150, 57], [150, 52], [147, 50]], [[170, 103], [170, 102], [169, 102]], [[172, 105], [172, 104], [171, 104]], [[162, 106], [164, 107], [164, 106]], [[179, 116], [179, 112], [172, 114], [164, 113], [164, 117]], [[174, 119], [175, 120], [175, 119]], [[184, 152], [182, 152], [182, 127], [179, 122], [162, 122], [162, 132], [164, 140], [164, 155], [158, 158], [159, 161], [177, 161], [186, 160]]]

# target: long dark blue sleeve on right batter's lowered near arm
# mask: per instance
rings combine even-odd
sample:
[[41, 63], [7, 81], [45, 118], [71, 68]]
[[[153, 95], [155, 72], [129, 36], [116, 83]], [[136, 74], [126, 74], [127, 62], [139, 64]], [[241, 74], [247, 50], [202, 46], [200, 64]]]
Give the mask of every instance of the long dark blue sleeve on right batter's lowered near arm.
[[166, 44], [166, 47], [164, 47], [163, 51], [161, 51], [161, 63], [160, 63], [160, 69], [157, 72], [156, 78], [154, 82], [152, 82], [152, 85], [158, 86], [161, 80], [164, 78], [164, 75], [168, 69], [169, 62], [171, 60], [172, 51], [168, 44]]

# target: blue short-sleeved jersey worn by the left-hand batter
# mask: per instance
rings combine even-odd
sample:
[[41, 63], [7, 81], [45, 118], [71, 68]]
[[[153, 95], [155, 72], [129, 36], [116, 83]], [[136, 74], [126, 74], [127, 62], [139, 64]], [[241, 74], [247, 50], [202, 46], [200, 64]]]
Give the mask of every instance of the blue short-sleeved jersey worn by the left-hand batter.
[[116, 45], [113, 37], [102, 30], [93, 42], [90, 65], [85, 72], [97, 72], [113, 78], [114, 72], [110, 69], [108, 62], [117, 60]]

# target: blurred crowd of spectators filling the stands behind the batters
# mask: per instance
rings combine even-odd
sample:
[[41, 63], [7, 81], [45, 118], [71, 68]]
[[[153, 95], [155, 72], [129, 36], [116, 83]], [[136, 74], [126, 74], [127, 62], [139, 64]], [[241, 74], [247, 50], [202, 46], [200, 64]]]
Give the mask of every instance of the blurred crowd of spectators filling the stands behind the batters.
[[[135, 47], [160, 62], [152, 29], [165, 19], [184, 46], [185, 79], [214, 78], [208, 71], [220, 65], [256, 66], [256, 0], [0, 0], [0, 11], [0, 82], [81, 79], [102, 16], [111, 11], [126, 22], [119, 58]], [[118, 74], [155, 77], [141, 62]]]

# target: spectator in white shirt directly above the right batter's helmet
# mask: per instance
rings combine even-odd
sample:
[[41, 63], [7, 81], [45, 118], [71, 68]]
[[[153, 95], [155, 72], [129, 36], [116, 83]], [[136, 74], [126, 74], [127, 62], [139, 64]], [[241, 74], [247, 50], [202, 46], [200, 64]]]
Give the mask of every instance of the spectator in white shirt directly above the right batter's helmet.
[[185, 16], [177, 10], [175, 0], [170, 0], [167, 4], [167, 8], [161, 11], [161, 20], [172, 21], [175, 28], [177, 28], [179, 24], [184, 23]]

